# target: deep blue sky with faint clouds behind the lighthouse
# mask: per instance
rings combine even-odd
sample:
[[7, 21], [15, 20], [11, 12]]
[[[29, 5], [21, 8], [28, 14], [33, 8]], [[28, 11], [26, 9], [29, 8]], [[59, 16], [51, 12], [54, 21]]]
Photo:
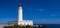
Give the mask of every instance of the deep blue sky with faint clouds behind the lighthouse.
[[[17, 20], [18, 1], [0, 0], [0, 23]], [[60, 24], [60, 0], [22, 0], [24, 20], [34, 24]]]

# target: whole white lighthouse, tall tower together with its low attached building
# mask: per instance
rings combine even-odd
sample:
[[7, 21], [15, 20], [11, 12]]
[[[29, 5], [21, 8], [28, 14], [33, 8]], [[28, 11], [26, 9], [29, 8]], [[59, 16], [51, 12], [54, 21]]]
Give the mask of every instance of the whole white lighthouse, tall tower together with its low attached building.
[[33, 25], [32, 20], [23, 20], [23, 9], [22, 5], [18, 5], [18, 25]]

